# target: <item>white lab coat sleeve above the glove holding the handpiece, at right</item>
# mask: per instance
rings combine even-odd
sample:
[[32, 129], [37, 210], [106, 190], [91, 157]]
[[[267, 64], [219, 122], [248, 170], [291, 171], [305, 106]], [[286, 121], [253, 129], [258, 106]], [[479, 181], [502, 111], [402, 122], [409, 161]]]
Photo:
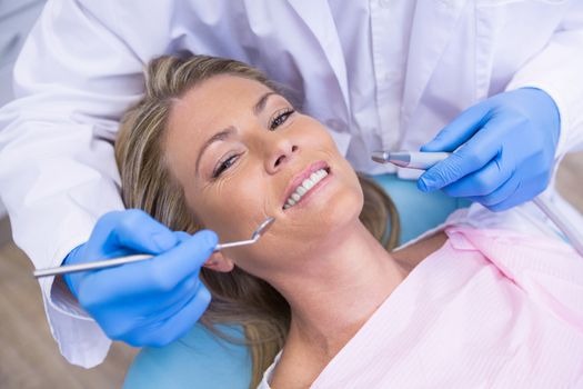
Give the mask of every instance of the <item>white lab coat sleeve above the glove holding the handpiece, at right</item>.
[[561, 117], [555, 152], [583, 149], [583, 2], [572, 1], [546, 47], [517, 71], [506, 90], [534, 87], [547, 92]]

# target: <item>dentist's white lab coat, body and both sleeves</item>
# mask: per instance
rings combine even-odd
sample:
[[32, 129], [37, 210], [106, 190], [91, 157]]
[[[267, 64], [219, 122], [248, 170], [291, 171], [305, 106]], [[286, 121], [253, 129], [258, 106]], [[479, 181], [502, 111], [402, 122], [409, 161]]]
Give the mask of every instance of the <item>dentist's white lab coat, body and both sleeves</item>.
[[[37, 268], [123, 208], [117, 121], [144, 63], [178, 51], [258, 66], [370, 173], [393, 171], [370, 151], [416, 150], [463, 109], [526, 86], [559, 107], [557, 161], [583, 143], [581, 0], [49, 1], [17, 62], [18, 99], [0, 111], [0, 194]], [[101, 362], [99, 327], [62, 285], [41, 289], [63, 356]]]

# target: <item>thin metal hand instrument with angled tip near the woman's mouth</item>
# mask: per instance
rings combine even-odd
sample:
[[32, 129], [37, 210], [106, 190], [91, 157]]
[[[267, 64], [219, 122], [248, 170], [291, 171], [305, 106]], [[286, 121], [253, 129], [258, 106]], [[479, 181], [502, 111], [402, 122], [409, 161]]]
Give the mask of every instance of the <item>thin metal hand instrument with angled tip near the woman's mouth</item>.
[[[219, 251], [219, 250], [228, 249], [228, 248], [232, 248], [232, 247], [253, 245], [271, 227], [271, 225], [273, 225], [273, 221], [275, 221], [275, 218], [269, 217], [257, 228], [255, 231], [253, 231], [253, 235], [251, 236], [251, 239], [238, 240], [238, 241], [228, 242], [228, 243], [219, 243], [219, 245], [217, 245], [214, 247], [213, 251]], [[145, 259], [150, 259], [150, 258], [153, 258], [153, 257], [154, 256], [152, 256], [152, 255], [143, 255], [143, 253], [141, 253], [141, 255], [118, 257], [118, 258], [104, 259], [104, 260], [86, 262], [86, 263], [59, 266], [59, 267], [54, 267], [54, 268], [46, 268], [46, 269], [34, 270], [33, 276], [34, 276], [34, 278], [42, 278], [42, 277], [49, 277], [49, 276], [72, 273], [72, 272], [78, 272], [78, 271], [104, 269], [104, 268], [110, 268], [110, 267], [119, 266], [119, 265], [123, 265], [123, 263], [139, 262], [139, 261], [145, 260]]]

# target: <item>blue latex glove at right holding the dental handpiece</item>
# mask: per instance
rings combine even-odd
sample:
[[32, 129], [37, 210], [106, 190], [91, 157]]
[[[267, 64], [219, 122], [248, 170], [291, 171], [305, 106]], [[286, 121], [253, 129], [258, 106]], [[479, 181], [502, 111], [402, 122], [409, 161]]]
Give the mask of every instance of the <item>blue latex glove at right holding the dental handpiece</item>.
[[535, 88], [491, 97], [455, 118], [421, 151], [454, 151], [425, 171], [422, 191], [478, 201], [501, 211], [549, 184], [560, 132], [553, 99]]

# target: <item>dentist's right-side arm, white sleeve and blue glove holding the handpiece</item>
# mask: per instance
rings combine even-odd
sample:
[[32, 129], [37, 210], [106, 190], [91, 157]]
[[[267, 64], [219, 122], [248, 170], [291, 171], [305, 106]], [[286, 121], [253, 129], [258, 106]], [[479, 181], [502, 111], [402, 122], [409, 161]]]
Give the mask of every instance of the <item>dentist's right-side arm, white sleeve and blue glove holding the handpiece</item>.
[[422, 151], [454, 151], [428, 170], [421, 190], [442, 189], [492, 210], [543, 191], [561, 158], [583, 146], [583, 3], [571, 2], [546, 47], [506, 92], [468, 108]]

